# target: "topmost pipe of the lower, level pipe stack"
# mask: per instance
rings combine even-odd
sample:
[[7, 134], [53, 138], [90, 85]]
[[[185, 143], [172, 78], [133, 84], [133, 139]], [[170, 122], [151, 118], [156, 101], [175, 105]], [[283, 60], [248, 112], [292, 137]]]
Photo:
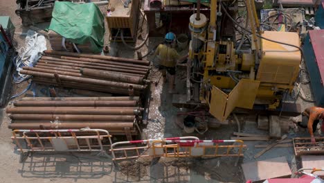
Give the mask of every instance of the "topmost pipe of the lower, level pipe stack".
[[138, 101], [139, 96], [24, 97], [20, 101]]

